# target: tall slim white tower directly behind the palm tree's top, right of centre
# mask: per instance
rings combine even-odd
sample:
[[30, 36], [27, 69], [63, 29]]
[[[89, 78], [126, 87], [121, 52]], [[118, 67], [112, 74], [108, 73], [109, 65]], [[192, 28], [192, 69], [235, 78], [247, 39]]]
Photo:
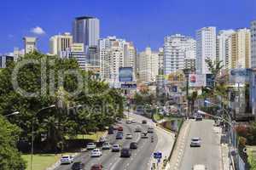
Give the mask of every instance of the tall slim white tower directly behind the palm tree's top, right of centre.
[[204, 27], [196, 31], [196, 72], [210, 73], [206, 59], [216, 59], [216, 27]]

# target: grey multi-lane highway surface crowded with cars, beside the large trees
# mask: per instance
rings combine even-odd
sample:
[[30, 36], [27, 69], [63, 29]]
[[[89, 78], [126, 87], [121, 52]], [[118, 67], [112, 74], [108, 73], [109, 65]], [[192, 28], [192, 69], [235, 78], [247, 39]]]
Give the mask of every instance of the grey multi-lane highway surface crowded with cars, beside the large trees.
[[[102, 156], [99, 158], [91, 158], [90, 151], [85, 151], [75, 158], [75, 161], [82, 161], [86, 170], [96, 163], [103, 165], [104, 169], [108, 170], [145, 170], [150, 169], [150, 157], [154, 152], [157, 144], [157, 135], [155, 133], [149, 134], [149, 139], [142, 139], [141, 133], [135, 133], [135, 127], [140, 125], [143, 131], [147, 131], [150, 125], [142, 124], [141, 122], [126, 124], [121, 122], [118, 126], [124, 127], [124, 139], [115, 139], [115, 134], [108, 135], [110, 144], [120, 144], [121, 147], [129, 147], [132, 141], [138, 144], [137, 150], [131, 151], [130, 158], [121, 158], [119, 152], [111, 152], [111, 150], [102, 150]], [[125, 139], [125, 134], [131, 133], [133, 139]], [[154, 143], [151, 143], [150, 136], [154, 136]], [[84, 144], [85, 147], [85, 144]], [[55, 170], [70, 170], [72, 165], [61, 165]]]

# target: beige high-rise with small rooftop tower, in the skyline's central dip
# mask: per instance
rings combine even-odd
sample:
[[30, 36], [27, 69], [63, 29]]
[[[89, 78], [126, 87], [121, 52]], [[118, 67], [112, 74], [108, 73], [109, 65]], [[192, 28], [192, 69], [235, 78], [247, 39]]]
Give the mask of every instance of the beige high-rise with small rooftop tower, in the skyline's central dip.
[[159, 75], [159, 52], [148, 47], [138, 55], [137, 62], [137, 82], [155, 82]]

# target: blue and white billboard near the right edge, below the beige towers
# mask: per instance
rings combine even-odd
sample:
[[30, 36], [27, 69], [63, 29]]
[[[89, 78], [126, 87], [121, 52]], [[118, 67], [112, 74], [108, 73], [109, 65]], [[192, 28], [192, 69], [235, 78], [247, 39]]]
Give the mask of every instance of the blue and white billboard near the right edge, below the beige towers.
[[230, 83], [244, 83], [250, 81], [250, 69], [230, 70]]

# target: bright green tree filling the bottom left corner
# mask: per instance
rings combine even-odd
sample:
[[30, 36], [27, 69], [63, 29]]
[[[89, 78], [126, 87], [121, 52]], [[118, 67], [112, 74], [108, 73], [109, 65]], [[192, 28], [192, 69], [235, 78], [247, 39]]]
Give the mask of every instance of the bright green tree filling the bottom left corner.
[[26, 162], [16, 148], [20, 128], [0, 116], [0, 170], [23, 170]]

